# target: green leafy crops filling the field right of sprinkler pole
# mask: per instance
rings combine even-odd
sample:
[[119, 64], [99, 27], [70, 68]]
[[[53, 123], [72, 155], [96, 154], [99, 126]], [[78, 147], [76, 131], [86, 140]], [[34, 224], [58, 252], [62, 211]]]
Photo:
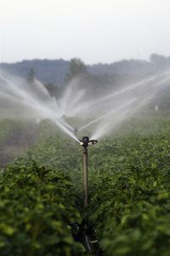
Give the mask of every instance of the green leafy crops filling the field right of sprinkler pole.
[[105, 141], [92, 156], [87, 215], [104, 255], [169, 255], [168, 129]]

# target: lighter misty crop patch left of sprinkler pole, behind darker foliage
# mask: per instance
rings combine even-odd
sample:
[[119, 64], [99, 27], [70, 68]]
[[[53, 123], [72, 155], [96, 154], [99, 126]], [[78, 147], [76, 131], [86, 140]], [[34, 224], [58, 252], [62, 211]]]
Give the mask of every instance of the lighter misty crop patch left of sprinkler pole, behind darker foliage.
[[[82, 147], [77, 142], [63, 137], [58, 132], [51, 130], [51, 136], [46, 134], [45, 126], [39, 132], [39, 142], [27, 152], [26, 156], [20, 157], [20, 162], [30, 164], [35, 161], [37, 165], [46, 168], [57, 169], [71, 177], [76, 189], [77, 207], [82, 211]], [[43, 134], [47, 137], [43, 138]]]

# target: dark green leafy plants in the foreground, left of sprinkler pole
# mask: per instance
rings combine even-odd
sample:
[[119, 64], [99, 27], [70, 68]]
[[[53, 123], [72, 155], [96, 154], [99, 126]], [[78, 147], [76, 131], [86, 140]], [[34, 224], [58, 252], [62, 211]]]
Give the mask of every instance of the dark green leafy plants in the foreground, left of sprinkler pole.
[[8, 166], [0, 181], [0, 255], [82, 255], [82, 219], [71, 179], [36, 162]]

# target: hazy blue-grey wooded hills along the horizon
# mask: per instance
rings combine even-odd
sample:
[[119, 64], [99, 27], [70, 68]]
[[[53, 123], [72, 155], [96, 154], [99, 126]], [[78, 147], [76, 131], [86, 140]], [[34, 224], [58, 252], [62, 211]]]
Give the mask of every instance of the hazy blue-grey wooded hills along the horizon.
[[[16, 63], [0, 63], [0, 69], [8, 71], [20, 77], [26, 77], [28, 72], [33, 69], [36, 77], [44, 84], [54, 84], [62, 86], [65, 75], [70, 66], [69, 60], [23, 60]], [[88, 72], [92, 76], [109, 77], [130, 76], [144, 77], [161, 71], [170, 66], [170, 57], [164, 57], [158, 54], [151, 54], [150, 61], [145, 60], [121, 60], [111, 64], [87, 65]]]

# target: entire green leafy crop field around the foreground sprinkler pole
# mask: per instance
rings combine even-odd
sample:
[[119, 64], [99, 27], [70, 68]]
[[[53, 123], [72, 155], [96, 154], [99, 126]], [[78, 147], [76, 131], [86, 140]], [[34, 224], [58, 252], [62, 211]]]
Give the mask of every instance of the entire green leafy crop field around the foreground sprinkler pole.
[[[15, 130], [5, 125], [1, 147]], [[34, 145], [1, 168], [0, 255], [169, 256], [169, 114], [133, 117], [89, 146], [88, 208], [82, 147], [48, 129], [41, 124]]]

